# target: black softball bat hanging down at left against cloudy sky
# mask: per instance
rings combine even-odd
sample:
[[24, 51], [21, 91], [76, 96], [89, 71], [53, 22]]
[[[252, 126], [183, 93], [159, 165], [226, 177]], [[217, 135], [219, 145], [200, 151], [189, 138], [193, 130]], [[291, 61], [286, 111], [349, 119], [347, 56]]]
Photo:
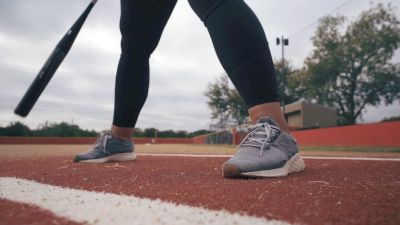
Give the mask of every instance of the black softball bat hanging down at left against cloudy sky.
[[22, 97], [17, 108], [15, 108], [15, 114], [23, 117], [29, 114], [39, 96], [42, 94], [43, 90], [49, 83], [50, 79], [57, 71], [57, 68], [60, 66], [65, 56], [68, 54], [68, 51], [71, 49], [71, 46], [74, 43], [76, 36], [78, 35], [83, 23], [85, 22], [87, 16], [89, 15], [96, 2], [97, 0], [92, 0], [90, 2], [85, 11], [83, 11], [83, 13], [79, 16], [78, 20], [75, 21], [72, 27], [58, 42], [51, 55], [49, 56], [43, 67], [40, 69], [38, 75], [33, 80], [31, 86], [26, 91], [24, 97]]

